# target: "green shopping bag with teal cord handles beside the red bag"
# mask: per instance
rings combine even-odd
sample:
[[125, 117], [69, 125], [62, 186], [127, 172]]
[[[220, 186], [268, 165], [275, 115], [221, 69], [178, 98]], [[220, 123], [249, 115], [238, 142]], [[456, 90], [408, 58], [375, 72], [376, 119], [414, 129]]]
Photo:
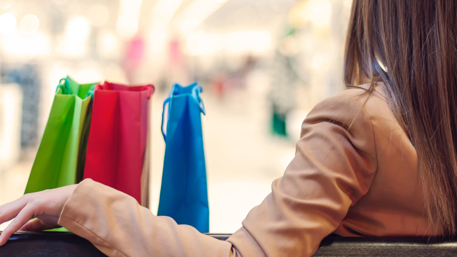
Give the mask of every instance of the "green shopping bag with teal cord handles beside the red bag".
[[25, 193], [80, 182], [84, 172], [91, 99], [97, 83], [60, 80]]

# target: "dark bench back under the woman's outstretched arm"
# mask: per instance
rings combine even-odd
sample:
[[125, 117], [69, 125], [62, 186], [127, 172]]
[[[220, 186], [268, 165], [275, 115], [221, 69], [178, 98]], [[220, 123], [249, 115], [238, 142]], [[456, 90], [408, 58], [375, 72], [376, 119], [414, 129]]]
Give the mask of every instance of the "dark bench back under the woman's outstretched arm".
[[[226, 240], [229, 234], [208, 234]], [[105, 256], [89, 241], [71, 233], [18, 232], [0, 247], [0, 256], [99, 257]], [[457, 256], [457, 240], [424, 237], [342, 237], [328, 236], [314, 254], [353, 257]]]

